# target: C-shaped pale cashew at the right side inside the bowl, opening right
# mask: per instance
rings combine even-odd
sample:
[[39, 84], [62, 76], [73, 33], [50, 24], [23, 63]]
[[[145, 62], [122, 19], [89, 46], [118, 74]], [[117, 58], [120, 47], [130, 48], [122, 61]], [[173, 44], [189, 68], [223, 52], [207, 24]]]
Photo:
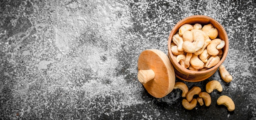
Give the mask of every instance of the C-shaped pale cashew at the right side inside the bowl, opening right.
[[219, 51], [216, 48], [218, 44], [220, 44], [221, 39], [213, 39], [210, 44], [207, 46], [207, 52], [209, 55], [218, 55]]

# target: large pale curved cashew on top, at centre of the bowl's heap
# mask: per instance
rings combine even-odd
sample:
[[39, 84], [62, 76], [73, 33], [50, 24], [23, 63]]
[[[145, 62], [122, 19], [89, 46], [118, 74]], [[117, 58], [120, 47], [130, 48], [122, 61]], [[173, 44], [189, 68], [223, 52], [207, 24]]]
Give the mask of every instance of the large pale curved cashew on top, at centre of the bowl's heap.
[[186, 52], [195, 53], [204, 46], [204, 35], [198, 31], [193, 33], [193, 42], [184, 41], [182, 44], [183, 49]]

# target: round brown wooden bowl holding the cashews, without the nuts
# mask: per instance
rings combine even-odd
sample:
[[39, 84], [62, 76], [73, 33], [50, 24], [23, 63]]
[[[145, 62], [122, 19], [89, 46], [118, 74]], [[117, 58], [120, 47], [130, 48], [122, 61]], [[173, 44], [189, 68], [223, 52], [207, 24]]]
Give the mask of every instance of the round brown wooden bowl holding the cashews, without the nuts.
[[[193, 70], [183, 68], [179, 63], [177, 63], [177, 61], [174, 59], [173, 54], [171, 52], [171, 42], [172, 42], [173, 35], [175, 35], [178, 32], [180, 26], [182, 26], [183, 24], [194, 25], [195, 23], [202, 24], [202, 26], [211, 23], [218, 30], [217, 38], [220, 38], [225, 41], [225, 46], [222, 48], [223, 55], [222, 55], [222, 58], [220, 59], [220, 62], [217, 65], [213, 66], [212, 68], [204, 71], [193, 71]], [[225, 29], [221, 26], [219, 22], [205, 15], [193, 15], [181, 20], [174, 26], [168, 38], [168, 57], [171, 63], [173, 64], [175, 76], [183, 81], [198, 82], [198, 81], [203, 81], [209, 78], [210, 76], [212, 76], [216, 72], [216, 70], [219, 68], [219, 66], [223, 63], [225, 58], [227, 57], [228, 48], [229, 48], [229, 40], [228, 40]]]

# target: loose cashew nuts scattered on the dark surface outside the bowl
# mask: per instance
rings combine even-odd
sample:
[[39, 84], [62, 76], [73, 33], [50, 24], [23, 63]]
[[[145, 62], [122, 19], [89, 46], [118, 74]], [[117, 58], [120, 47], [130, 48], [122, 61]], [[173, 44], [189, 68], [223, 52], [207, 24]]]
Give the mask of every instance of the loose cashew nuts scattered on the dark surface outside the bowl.
[[[223, 79], [223, 81], [229, 83], [232, 81], [232, 76], [227, 72], [224, 65], [220, 65], [219, 67], [220, 76]], [[185, 109], [191, 110], [196, 107], [197, 103], [199, 103], [200, 106], [210, 106], [211, 105], [211, 92], [213, 90], [217, 90], [218, 92], [222, 92], [222, 85], [219, 81], [212, 80], [209, 81], [206, 84], [206, 92], [202, 92], [200, 87], [194, 86], [190, 90], [188, 89], [187, 85], [182, 82], [176, 82], [174, 85], [174, 89], [181, 89], [182, 90], [182, 97], [184, 98], [182, 100], [182, 105]], [[195, 95], [198, 95], [197, 98], [195, 98]], [[217, 100], [218, 105], [225, 105], [228, 109], [228, 111], [234, 111], [235, 104], [234, 101], [229, 97], [222, 95]]]

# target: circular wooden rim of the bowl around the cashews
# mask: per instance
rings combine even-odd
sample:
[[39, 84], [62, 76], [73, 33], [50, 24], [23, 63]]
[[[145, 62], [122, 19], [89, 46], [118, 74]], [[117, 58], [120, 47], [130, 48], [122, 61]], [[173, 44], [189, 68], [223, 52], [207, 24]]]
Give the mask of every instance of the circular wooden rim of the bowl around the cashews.
[[[224, 46], [224, 48], [222, 48], [222, 49], [225, 50], [225, 51], [223, 51], [223, 55], [222, 55], [222, 58], [220, 59], [220, 62], [219, 62], [217, 65], [213, 66], [212, 68], [210, 68], [210, 69], [208, 69], [208, 70], [204, 70], [204, 71], [193, 71], [193, 70], [189, 70], [189, 69], [183, 68], [179, 63], [177, 63], [177, 61], [174, 60], [173, 54], [172, 54], [172, 52], [171, 52], [171, 41], [172, 41], [173, 35], [175, 35], [175, 33], [177, 33], [178, 28], [179, 28], [179, 26], [181, 26], [181, 24], [182, 24], [182, 25], [183, 25], [183, 24], [186, 24], [186, 21], [187, 21], [187, 20], [190, 20], [190, 19], [206, 19], [206, 20], [209, 20], [208, 23], [213, 24], [213, 26], [214, 26], [215, 28], [217, 28], [217, 27], [216, 27], [216, 24], [220, 27], [220, 28], [217, 28], [217, 29], [218, 29], [218, 32], [219, 32], [220, 30], [223, 31], [222, 33], [223, 33], [224, 38], [225, 38], [225, 46]], [[198, 22], [198, 23], [200, 23], [200, 22]], [[219, 29], [220, 29], [220, 30], [219, 30]], [[218, 34], [219, 34], [219, 33], [218, 33]], [[219, 37], [219, 35], [218, 35], [218, 37]], [[222, 39], [222, 40], [223, 40], [223, 39]], [[192, 16], [189, 16], [189, 17], [186, 17], [186, 18], [180, 20], [179, 22], [177, 22], [177, 24], [175, 24], [175, 26], [173, 27], [173, 29], [172, 29], [172, 31], [171, 31], [171, 33], [170, 33], [170, 35], [169, 35], [169, 38], [168, 38], [168, 54], [169, 54], [170, 57], [171, 57], [172, 63], [175, 64], [174, 66], [177, 66], [177, 67], [178, 67], [179, 69], [181, 69], [183, 72], [186, 72], [186, 73], [188, 73], [188, 74], [204, 74], [204, 73], [210, 72], [210, 71], [212, 71], [212, 70], [216, 70], [216, 69], [225, 61], [225, 59], [226, 59], [226, 57], [227, 57], [228, 48], [229, 48], [229, 40], [228, 40], [228, 37], [227, 37], [227, 32], [225, 31], [225, 29], [223, 28], [223, 26], [222, 26], [219, 22], [217, 22], [216, 20], [214, 20], [213, 18], [208, 17], [208, 16], [206, 16], [206, 15], [192, 15]], [[169, 58], [169, 59], [170, 59], [170, 58]], [[175, 68], [175, 67], [174, 67], [174, 68]], [[176, 68], [175, 68], [175, 69], [176, 69]]]

